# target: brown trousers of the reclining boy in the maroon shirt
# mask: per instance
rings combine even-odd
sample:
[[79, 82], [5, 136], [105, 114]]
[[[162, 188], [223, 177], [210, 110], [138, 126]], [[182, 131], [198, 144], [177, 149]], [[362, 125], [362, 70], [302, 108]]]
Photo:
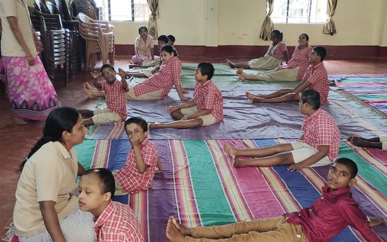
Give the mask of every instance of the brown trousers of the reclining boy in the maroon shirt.
[[301, 225], [287, 223], [284, 216], [240, 221], [229, 225], [191, 228], [187, 242], [235, 241], [235, 242], [306, 242]]

